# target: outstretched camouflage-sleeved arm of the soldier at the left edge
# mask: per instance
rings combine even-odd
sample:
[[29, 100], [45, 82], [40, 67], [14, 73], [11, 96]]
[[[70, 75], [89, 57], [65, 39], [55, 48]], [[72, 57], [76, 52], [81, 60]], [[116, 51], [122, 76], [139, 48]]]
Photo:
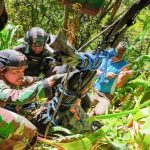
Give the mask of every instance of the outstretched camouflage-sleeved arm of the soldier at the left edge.
[[51, 87], [54, 83], [55, 79], [50, 77], [22, 90], [17, 90], [12, 89], [3, 80], [0, 80], [0, 101], [23, 105], [35, 99], [50, 97], [52, 94]]

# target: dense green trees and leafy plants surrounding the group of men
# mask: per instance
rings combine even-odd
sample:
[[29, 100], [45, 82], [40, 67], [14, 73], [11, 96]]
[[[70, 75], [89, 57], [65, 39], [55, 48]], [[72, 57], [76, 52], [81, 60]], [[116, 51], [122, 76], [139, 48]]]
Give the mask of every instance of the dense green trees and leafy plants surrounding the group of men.
[[[134, 0], [106, 0], [97, 16], [90, 16], [67, 8], [68, 24], [64, 20], [64, 7], [57, 0], [7, 0], [9, 25], [0, 33], [0, 49], [17, 45], [25, 32], [33, 26], [57, 34], [65, 28], [75, 33], [73, 44], [78, 49], [108, 25], [120, 18]], [[150, 149], [150, 6], [136, 17], [122, 39], [127, 43], [125, 58], [131, 63], [133, 76], [122, 89], [116, 91], [107, 115], [89, 118], [104, 125], [96, 133], [72, 135], [62, 138], [65, 143], [43, 141], [71, 149]], [[72, 23], [74, 28], [72, 29]], [[105, 35], [103, 35], [105, 36]], [[86, 49], [94, 49], [103, 39], [95, 40]], [[73, 140], [73, 142], [72, 142]], [[56, 142], [56, 143], [54, 143]], [[40, 144], [37, 149], [49, 149]], [[78, 147], [77, 147], [78, 146]]]

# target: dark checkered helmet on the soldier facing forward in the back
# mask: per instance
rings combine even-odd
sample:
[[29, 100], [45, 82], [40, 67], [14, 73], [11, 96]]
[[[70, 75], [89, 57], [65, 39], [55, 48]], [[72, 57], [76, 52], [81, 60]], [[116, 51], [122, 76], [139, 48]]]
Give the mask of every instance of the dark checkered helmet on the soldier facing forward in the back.
[[26, 32], [25, 41], [31, 46], [35, 44], [37, 46], [44, 46], [48, 39], [48, 34], [39, 27], [33, 27]]

